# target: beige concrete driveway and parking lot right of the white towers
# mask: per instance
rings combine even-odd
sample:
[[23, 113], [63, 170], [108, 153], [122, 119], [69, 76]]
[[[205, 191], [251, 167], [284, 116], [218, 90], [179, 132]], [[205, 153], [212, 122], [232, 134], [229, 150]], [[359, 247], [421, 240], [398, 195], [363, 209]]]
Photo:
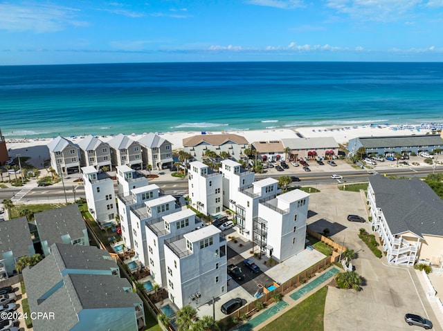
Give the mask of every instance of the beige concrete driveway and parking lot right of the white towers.
[[358, 256], [352, 264], [365, 281], [360, 292], [329, 287], [325, 331], [422, 330], [405, 323], [406, 313], [422, 315], [433, 321], [434, 330], [442, 330], [415, 269], [388, 265], [384, 256], [375, 257], [358, 237], [361, 227], [372, 233], [370, 224], [347, 221], [347, 214], [368, 219], [364, 195], [339, 191], [335, 185], [322, 185], [318, 189], [320, 193], [311, 194], [309, 198], [309, 209], [316, 212], [308, 218], [309, 227], [314, 231], [328, 227], [333, 240], [354, 249]]

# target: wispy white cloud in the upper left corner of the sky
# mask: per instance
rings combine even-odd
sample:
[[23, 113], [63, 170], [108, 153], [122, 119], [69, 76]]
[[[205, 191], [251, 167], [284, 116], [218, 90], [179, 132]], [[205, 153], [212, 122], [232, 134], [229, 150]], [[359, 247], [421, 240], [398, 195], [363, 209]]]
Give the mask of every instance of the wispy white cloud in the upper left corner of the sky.
[[89, 26], [75, 19], [80, 10], [50, 4], [12, 5], [0, 3], [0, 30], [56, 32], [66, 26]]

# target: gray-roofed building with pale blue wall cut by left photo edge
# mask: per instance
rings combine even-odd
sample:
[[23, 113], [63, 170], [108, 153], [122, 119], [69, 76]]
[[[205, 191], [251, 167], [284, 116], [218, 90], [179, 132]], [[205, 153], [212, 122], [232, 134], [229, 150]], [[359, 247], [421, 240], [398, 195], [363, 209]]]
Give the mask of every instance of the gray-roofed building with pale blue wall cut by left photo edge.
[[21, 256], [33, 256], [35, 249], [26, 217], [0, 222], [0, 281], [16, 273]]

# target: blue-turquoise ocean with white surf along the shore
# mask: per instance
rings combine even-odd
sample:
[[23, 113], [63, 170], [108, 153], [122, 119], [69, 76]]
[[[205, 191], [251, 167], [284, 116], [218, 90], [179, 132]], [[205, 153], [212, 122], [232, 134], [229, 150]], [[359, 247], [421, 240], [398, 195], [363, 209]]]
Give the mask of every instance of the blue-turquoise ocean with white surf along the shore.
[[443, 63], [0, 66], [6, 138], [443, 123]]

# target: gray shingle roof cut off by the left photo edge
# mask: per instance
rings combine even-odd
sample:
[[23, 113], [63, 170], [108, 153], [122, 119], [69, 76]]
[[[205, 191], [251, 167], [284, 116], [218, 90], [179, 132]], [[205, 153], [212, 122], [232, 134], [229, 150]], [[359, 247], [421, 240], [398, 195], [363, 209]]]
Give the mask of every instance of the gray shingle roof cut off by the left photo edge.
[[28, 220], [26, 217], [14, 218], [0, 222], [0, 252], [12, 251], [15, 258], [29, 255], [28, 247], [33, 246], [30, 238]]

